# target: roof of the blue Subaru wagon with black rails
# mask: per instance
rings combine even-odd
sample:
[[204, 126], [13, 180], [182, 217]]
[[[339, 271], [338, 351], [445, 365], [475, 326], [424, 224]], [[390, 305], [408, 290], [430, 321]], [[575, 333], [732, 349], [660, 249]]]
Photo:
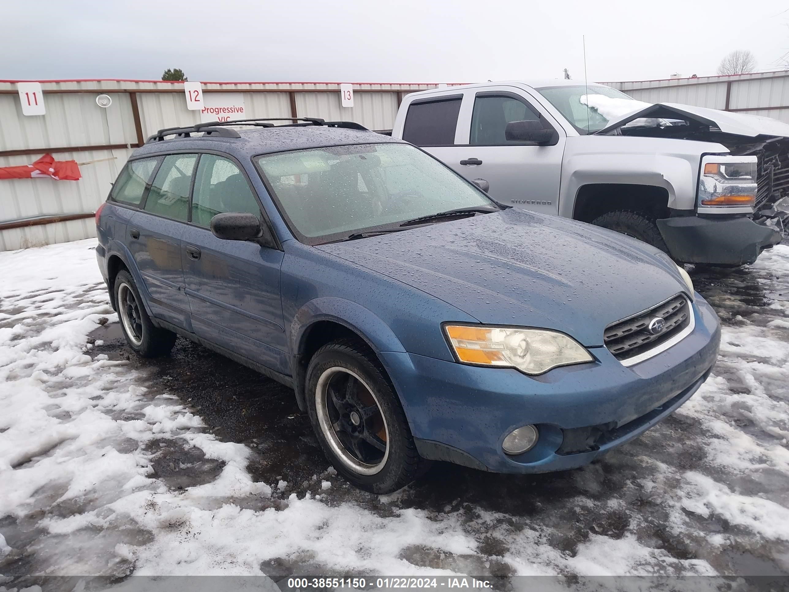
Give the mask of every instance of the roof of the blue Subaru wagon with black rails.
[[174, 137], [148, 141], [134, 151], [133, 158], [186, 150], [226, 152], [237, 158], [272, 152], [288, 152], [324, 146], [349, 144], [407, 144], [368, 129], [347, 129], [327, 126], [275, 126], [237, 129], [240, 137]]

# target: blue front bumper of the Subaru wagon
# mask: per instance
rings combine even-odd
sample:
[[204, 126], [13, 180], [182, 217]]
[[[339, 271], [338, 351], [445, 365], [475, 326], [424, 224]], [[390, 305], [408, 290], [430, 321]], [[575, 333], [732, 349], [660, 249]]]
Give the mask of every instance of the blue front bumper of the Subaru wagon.
[[[694, 332], [630, 368], [604, 347], [590, 349], [595, 362], [539, 377], [416, 354], [381, 356], [425, 458], [498, 473], [565, 470], [637, 437], [701, 386], [716, 362], [720, 325], [698, 295], [693, 308]], [[504, 437], [528, 424], [539, 429], [537, 445], [522, 455], [505, 455]], [[593, 445], [578, 448], [578, 433], [603, 425], [607, 430]], [[570, 439], [571, 450], [565, 444]]]

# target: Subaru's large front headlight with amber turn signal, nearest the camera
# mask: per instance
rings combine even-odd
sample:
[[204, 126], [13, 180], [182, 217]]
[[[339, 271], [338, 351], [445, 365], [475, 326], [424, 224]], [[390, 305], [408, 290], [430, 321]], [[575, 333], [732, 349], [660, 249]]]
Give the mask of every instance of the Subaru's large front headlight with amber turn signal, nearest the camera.
[[580, 343], [555, 331], [454, 324], [444, 325], [444, 331], [458, 361], [463, 364], [542, 374], [556, 366], [593, 360]]

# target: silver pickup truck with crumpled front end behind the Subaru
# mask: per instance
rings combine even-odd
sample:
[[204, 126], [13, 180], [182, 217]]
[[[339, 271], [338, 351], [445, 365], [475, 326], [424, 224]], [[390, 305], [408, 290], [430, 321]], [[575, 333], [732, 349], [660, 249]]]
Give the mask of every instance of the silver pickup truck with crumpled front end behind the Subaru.
[[684, 263], [753, 263], [780, 242], [789, 125], [600, 84], [489, 82], [402, 99], [392, 136], [496, 199], [618, 230]]

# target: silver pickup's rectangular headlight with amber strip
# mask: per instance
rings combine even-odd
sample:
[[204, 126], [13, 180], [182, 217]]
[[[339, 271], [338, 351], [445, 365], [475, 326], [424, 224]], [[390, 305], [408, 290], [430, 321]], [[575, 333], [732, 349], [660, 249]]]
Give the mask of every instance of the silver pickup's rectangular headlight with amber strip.
[[698, 212], [751, 212], [756, 203], [756, 156], [704, 156], [698, 183]]

